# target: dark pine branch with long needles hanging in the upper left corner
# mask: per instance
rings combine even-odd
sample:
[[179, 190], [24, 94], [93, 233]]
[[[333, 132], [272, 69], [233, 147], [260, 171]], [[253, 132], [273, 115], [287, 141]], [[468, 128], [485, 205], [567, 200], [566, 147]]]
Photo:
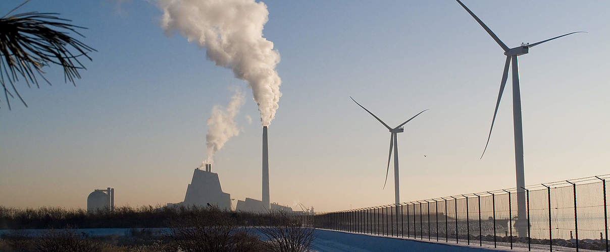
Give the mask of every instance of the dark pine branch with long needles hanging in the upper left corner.
[[65, 82], [76, 85], [74, 79], [81, 79], [79, 69], [85, 69], [79, 58], [91, 60], [87, 54], [95, 51], [69, 34], [74, 32], [84, 37], [76, 29], [86, 28], [69, 24], [70, 20], [59, 18], [59, 13], [27, 12], [9, 16], [27, 2], [29, 0], [0, 18], [0, 85], [9, 110], [9, 96], [18, 97], [27, 107], [15, 87], [20, 77], [28, 87], [40, 88], [36, 75], [51, 85], [43, 75], [43, 67], [54, 64], [63, 67]]

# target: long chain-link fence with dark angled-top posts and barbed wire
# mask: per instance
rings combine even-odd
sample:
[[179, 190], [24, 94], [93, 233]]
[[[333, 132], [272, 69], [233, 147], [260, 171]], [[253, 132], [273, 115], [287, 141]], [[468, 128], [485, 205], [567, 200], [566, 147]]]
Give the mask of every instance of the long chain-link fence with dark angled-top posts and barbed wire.
[[608, 251], [610, 175], [316, 214], [315, 228], [550, 251]]

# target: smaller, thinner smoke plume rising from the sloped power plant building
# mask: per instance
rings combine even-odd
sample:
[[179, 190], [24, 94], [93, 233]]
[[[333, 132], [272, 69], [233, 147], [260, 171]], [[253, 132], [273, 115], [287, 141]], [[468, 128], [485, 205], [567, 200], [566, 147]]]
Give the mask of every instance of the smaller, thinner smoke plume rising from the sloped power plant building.
[[237, 116], [240, 107], [244, 103], [245, 95], [239, 88], [235, 88], [234, 91], [235, 93], [226, 108], [220, 105], [212, 107], [212, 114], [207, 119], [207, 158], [204, 159], [203, 164], [213, 164], [216, 152], [229, 141], [229, 138], [239, 135], [235, 116]]

